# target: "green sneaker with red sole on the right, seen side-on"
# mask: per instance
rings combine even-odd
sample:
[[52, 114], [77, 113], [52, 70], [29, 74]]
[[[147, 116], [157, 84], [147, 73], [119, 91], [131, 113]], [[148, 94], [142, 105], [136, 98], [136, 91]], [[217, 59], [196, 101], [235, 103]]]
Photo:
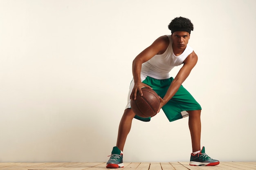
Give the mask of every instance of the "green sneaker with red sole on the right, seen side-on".
[[220, 161], [211, 159], [211, 157], [206, 155], [205, 149], [203, 146], [202, 150], [199, 153], [197, 153], [195, 155], [193, 153], [191, 153], [189, 165], [192, 165], [192, 166], [216, 166], [219, 163], [220, 163]]

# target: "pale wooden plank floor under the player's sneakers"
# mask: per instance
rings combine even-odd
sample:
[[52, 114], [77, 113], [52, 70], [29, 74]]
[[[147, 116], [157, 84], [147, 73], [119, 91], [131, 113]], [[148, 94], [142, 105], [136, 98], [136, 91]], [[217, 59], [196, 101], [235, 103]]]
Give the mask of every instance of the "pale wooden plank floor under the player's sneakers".
[[[0, 170], [108, 170], [106, 162], [0, 163]], [[256, 170], [256, 162], [221, 162], [218, 166], [189, 166], [189, 162], [124, 163], [118, 170]]]

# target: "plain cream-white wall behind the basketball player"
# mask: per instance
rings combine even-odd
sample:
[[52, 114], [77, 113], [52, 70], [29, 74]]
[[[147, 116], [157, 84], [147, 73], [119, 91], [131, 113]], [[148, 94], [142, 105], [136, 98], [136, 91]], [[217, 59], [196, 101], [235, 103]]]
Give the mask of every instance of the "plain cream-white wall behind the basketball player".
[[[0, 162], [108, 161], [134, 57], [177, 17], [198, 64], [202, 146], [256, 161], [255, 0], [0, 0]], [[173, 69], [175, 77], [179, 68]], [[124, 161], [189, 161], [188, 118], [134, 120]]]

